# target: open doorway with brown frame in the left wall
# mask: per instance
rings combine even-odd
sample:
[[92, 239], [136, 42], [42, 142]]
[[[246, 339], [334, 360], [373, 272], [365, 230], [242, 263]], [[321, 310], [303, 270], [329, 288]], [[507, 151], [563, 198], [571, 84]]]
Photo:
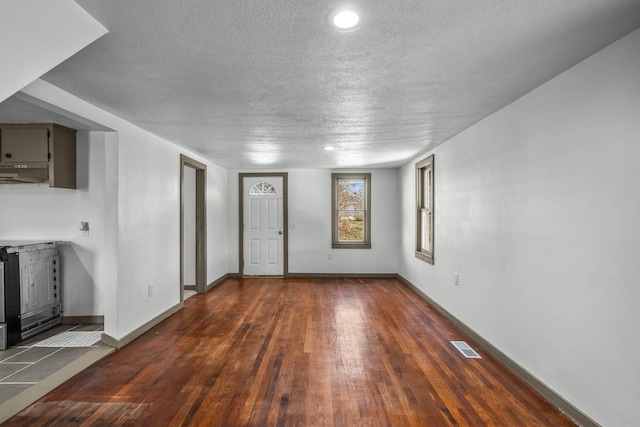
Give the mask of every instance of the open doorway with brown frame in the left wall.
[[205, 164], [180, 155], [180, 302], [185, 292], [206, 291], [206, 173]]

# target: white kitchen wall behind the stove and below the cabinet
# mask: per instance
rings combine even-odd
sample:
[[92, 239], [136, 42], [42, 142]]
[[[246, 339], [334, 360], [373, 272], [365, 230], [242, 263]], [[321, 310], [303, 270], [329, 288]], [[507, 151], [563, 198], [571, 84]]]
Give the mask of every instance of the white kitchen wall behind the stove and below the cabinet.
[[[67, 242], [59, 246], [63, 315], [101, 315], [105, 266], [96, 253], [105, 239], [104, 133], [79, 132], [76, 151], [76, 190], [0, 185], [0, 241]], [[89, 236], [81, 236], [81, 221], [89, 222]]]

